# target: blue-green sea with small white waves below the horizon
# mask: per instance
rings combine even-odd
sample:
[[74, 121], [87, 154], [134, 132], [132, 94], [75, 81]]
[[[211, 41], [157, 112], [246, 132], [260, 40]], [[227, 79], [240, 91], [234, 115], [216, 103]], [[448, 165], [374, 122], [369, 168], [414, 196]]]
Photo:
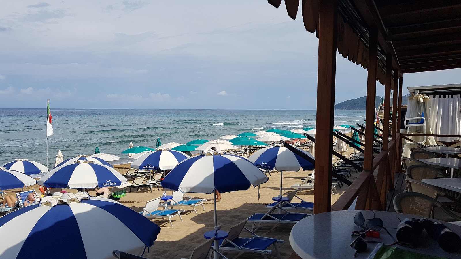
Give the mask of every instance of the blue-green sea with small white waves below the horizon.
[[[155, 148], [162, 144], [184, 144], [195, 139], [213, 140], [242, 132], [315, 128], [315, 110], [133, 110], [53, 109], [54, 135], [48, 138], [48, 163], [56, 153], [64, 159], [78, 154], [101, 153], [120, 156], [112, 165], [130, 162], [130, 141]], [[335, 111], [335, 125], [361, 124], [365, 111]], [[0, 165], [22, 158], [47, 165], [46, 109], [0, 109]]]

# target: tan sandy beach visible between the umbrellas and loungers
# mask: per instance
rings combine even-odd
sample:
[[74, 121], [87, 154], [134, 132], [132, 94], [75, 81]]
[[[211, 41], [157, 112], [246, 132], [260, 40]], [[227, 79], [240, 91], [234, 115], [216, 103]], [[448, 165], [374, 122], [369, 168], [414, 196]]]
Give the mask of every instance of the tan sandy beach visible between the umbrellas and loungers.
[[[351, 148], [348, 152], [343, 155], [348, 156], [351, 153]], [[333, 159], [333, 161], [336, 158]], [[114, 165], [114, 169], [119, 172], [126, 172], [130, 168], [130, 164]], [[284, 171], [283, 180], [283, 194], [287, 194], [295, 183], [300, 182], [301, 178], [307, 176], [312, 171]], [[352, 177], [350, 181], [354, 181], [356, 174], [354, 171], [351, 172]], [[129, 179], [129, 181], [132, 181]], [[29, 190], [34, 188], [35, 191], [39, 192], [38, 186], [30, 186], [24, 188]], [[344, 185], [343, 188], [337, 188], [337, 193], [331, 196], [331, 202], [334, 203], [341, 194], [348, 188]], [[76, 192], [74, 189], [66, 189], [73, 193]], [[222, 201], [218, 202], [218, 224], [221, 225], [222, 230], [229, 230], [230, 227], [242, 222], [254, 213], [267, 212], [266, 205], [271, 203], [271, 198], [277, 196], [280, 190], [280, 173], [271, 172], [269, 181], [262, 184], [260, 187], [260, 200], [258, 200], [258, 188], [250, 187], [246, 191], [236, 191], [231, 193], [224, 193], [222, 195]], [[5, 191], [6, 194], [14, 194], [15, 192], [21, 191], [21, 189], [11, 189]], [[307, 190], [298, 192], [303, 200], [313, 201], [313, 194], [315, 190]], [[89, 191], [91, 195], [95, 192]], [[149, 188], [140, 188], [136, 191], [133, 189], [131, 193], [119, 200], [125, 206], [130, 207], [136, 212], [142, 211], [145, 202], [154, 198], [160, 197], [163, 193], [162, 188], [158, 190], [153, 188], [151, 193]], [[171, 192], [169, 192], [171, 193]], [[150, 252], [146, 253], [144, 257], [150, 259], [172, 259], [172, 258], [188, 258], [192, 250], [206, 241], [203, 237], [203, 233], [209, 230], [213, 230], [213, 194], [189, 194], [192, 198], [206, 199], [204, 203], [206, 211], [203, 211], [201, 207], [196, 207], [198, 214], [196, 215], [192, 208], [185, 208], [186, 211], [181, 213], [183, 222], [178, 217], [172, 218], [173, 227], [170, 226], [166, 219], [152, 219], [152, 222], [158, 224], [161, 227], [161, 232], [154, 242], [154, 246], [151, 247]], [[296, 197], [295, 200], [296, 201]], [[296, 212], [307, 212], [308, 211], [297, 211]], [[247, 228], [251, 228], [251, 224], [246, 225]], [[279, 238], [285, 242], [279, 245], [279, 251], [282, 258], [288, 258], [293, 252], [289, 242], [290, 230], [293, 224], [262, 224], [261, 228], [256, 230], [255, 233], [261, 236], [267, 236], [272, 238]], [[244, 233], [246, 231], [243, 231]], [[248, 232], [245, 233], [246, 236]], [[244, 236], [245, 236], [244, 235]], [[120, 239], [123, 241], [123, 237]], [[270, 248], [272, 249], [272, 248]], [[272, 256], [269, 258], [277, 258], [275, 251], [272, 249]], [[242, 252], [225, 252], [228, 258], [242, 258], [242, 259], [253, 259], [253, 258], [264, 258], [260, 254], [255, 253], [242, 253]]]

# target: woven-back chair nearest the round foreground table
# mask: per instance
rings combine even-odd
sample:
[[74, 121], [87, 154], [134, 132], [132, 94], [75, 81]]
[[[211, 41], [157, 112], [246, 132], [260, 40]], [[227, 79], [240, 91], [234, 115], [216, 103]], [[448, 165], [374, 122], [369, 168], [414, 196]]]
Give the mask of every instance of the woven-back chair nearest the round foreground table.
[[397, 194], [394, 198], [394, 208], [396, 212], [412, 214], [420, 217], [434, 218], [435, 208], [442, 211], [449, 218], [444, 220], [461, 220], [461, 216], [456, 215], [442, 203], [427, 196], [416, 192], [403, 192]]

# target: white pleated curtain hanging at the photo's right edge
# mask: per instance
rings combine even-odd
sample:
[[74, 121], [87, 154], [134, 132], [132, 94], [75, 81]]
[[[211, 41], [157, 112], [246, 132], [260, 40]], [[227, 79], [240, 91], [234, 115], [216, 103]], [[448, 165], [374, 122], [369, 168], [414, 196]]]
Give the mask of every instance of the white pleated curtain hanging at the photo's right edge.
[[[459, 94], [431, 96], [429, 124], [432, 134], [461, 135], [461, 97]], [[435, 137], [436, 141], [460, 140], [456, 137]]]

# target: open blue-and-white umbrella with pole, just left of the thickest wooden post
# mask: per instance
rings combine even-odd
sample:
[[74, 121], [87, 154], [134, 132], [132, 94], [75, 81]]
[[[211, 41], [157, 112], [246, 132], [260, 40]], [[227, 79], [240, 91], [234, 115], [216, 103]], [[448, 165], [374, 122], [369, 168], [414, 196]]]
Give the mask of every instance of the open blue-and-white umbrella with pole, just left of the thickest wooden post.
[[[305, 153], [307, 156], [313, 156], [307, 153], [304, 150], [298, 148], [302, 153]], [[281, 171], [280, 174], [280, 195], [282, 195], [282, 181], [283, 181], [283, 171], [299, 171], [302, 170], [312, 170], [314, 165], [307, 161], [306, 159], [301, 158], [297, 154], [290, 151], [286, 147], [265, 147], [256, 151], [252, 154], [248, 160], [256, 165], [258, 168], [273, 170], [276, 169]]]

